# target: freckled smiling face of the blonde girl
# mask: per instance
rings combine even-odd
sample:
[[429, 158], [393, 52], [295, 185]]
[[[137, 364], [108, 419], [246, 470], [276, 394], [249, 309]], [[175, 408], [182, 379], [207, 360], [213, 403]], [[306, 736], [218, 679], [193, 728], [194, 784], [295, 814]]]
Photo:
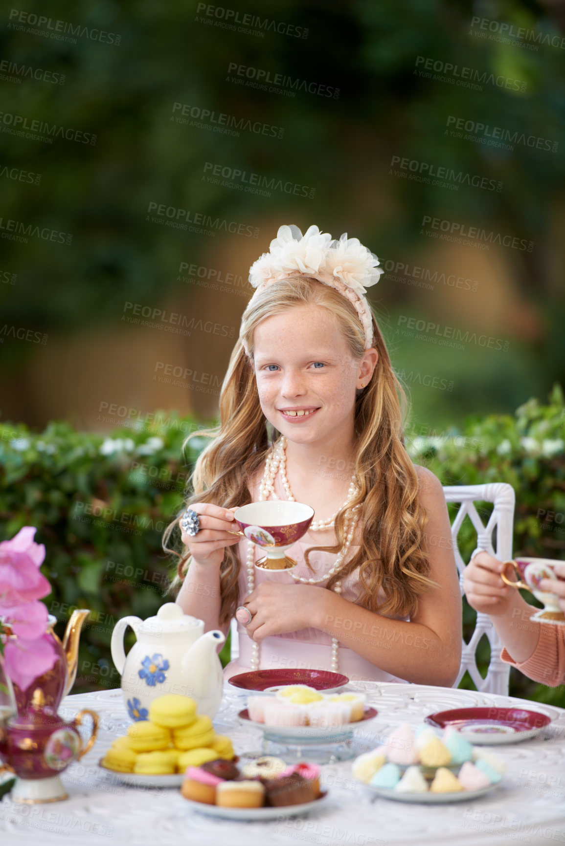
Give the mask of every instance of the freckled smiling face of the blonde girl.
[[349, 446], [356, 390], [374, 371], [375, 350], [362, 360], [330, 311], [297, 305], [268, 317], [253, 333], [253, 362], [263, 415], [289, 441]]

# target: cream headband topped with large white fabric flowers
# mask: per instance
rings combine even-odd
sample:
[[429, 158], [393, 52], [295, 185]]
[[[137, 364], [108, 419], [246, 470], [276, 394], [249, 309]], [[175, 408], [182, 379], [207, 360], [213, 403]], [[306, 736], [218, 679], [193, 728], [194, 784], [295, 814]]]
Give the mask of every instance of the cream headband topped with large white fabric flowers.
[[[321, 233], [317, 226], [308, 227], [304, 235], [293, 224], [281, 226], [269, 252], [263, 253], [249, 269], [249, 282], [256, 289], [252, 299], [258, 291], [280, 279], [301, 275], [318, 279], [355, 306], [365, 330], [365, 349], [370, 349], [373, 323], [365, 294], [366, 288], [379, 282], [383, 269], [378, 264], [377, 256], [357, 238], [347, 238], [347, 233], [336, 241], [330, 233]], [[243, 346], [248, 356], [245, 341]]]

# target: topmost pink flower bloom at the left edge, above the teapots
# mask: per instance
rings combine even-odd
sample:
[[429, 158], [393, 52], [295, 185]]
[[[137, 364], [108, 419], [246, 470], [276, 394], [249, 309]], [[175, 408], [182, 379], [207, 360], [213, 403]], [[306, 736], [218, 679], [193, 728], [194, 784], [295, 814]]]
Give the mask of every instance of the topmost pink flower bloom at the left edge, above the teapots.
[[35, 534], [34, 526], [24, 526], [10, 541], [0, 542], [0, 611], [51, 593], [39, 569], [45, 547], [33, 540]]

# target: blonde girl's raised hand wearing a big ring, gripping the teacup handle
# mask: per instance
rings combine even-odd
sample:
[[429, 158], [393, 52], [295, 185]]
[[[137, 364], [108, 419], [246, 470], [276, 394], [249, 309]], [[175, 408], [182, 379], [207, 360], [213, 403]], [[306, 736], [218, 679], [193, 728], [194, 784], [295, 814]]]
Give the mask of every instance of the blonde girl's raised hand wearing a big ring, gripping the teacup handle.
[[192, 503], [189, 508], [198, 514], [200, 530], [191, 536], [180, 529], [182, 542], [188, 547], [194, 562], [207, 567], [219, 567], [224, 560], [225, 547], [233, 547], [241, 539], [241, 536], [233, 534], [239, 531], [232, 514], [237, 507], [221, 508], [212, 503]]

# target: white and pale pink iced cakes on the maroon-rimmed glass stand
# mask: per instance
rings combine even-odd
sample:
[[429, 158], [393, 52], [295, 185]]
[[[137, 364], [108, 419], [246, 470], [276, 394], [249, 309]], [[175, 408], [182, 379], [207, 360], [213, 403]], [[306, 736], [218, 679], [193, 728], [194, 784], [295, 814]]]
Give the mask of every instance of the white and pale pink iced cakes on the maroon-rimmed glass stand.
[[337, 728], [363, 719], [365, 695], [323, 694], [307, 684], [289, 684], [274, 696], [247, 697], [247, 712], [253, 722], [268, 726], [313, 726]]

